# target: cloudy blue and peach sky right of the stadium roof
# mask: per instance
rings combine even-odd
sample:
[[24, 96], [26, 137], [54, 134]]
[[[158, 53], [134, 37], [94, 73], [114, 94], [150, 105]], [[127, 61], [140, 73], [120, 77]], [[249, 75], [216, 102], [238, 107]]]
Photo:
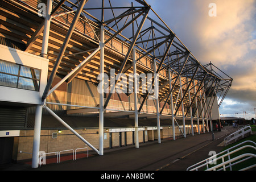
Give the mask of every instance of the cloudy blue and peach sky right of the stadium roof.
[[[220, 114], [226, 117], [255, 118], [256, 0], [146, 2], [201, 64], [212, 61], [234, 79], [222, 102]], [[210, 3], [216, 4], [217, 16], [209, 16], [212, 9]], [[244, 116], [243, 111], [248, 114]]]

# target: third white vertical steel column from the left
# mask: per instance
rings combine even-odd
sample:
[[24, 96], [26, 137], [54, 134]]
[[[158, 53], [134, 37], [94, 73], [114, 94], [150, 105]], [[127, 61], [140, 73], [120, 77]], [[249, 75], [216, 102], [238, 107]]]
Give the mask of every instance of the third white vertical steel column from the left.
[[133, 85], [134, 85], [134, 140], [135, 148], [139, 148], [139, 120], [138, 120], [138, 97], [137, 97], [137, 60], [136, 49], [133, 47]]

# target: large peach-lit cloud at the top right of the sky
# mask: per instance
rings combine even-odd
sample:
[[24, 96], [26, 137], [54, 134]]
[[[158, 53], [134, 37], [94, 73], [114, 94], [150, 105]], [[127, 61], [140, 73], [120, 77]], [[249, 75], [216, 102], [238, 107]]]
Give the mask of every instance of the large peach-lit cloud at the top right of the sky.
[[255, 23], [253, 0], [214, 1], [217, 5], [217, 17], [210, 17], [205, 9], [210, 1], [193, 1], [196, 14], [194, 33], [197, 34], [201, 50], [199, 58], [212, 60], [217, 66], [236, 65], [250, 51], [255, 50], [252, 34]]

